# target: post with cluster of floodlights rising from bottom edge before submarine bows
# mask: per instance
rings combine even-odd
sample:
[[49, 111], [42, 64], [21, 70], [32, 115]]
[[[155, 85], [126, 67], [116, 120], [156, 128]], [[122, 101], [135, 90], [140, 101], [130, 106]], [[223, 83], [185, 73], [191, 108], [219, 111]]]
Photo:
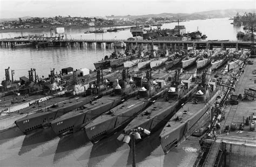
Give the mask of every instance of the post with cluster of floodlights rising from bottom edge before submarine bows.
[[140, 133], [145, 133], [147, 135], [150, 135], [150, 131], [147, 129], [143, 129], [140, 127], [131, 129], [129, 133], [125, 134], [120, 134], [117, 137], [117, 140], [123, 141], [125, 143], [129, 143], [131, 140], [131, 148], [132, 148], [132, 167], [136, 167], [136, 162], [135, 162], [135, 140], [142, 139], [140, 137]]

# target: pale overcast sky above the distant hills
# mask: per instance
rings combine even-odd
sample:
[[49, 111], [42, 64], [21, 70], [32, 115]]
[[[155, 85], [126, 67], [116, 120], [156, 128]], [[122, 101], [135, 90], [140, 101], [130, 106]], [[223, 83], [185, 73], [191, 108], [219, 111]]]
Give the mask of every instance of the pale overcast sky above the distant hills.
[[0, 0], [0, 18], [110, 16], [256, 9], [255, 0]]

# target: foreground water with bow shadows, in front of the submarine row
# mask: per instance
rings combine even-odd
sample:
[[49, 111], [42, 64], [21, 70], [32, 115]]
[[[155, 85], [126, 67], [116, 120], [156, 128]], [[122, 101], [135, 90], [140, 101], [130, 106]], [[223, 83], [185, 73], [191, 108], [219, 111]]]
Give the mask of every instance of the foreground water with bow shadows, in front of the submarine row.
[[[160, 131], [136, 145], [137, 166], [191, 166], [199, 151], [192, 137], [164, 155], [158, 140]], [[51, 128], [22, 135], [18, 128], [0, 133], [0, 161], [3, 166], [132, 166], [131, 149], [116, 140], [119, 133], [93, 145], [85, 133], [55, 136]]]

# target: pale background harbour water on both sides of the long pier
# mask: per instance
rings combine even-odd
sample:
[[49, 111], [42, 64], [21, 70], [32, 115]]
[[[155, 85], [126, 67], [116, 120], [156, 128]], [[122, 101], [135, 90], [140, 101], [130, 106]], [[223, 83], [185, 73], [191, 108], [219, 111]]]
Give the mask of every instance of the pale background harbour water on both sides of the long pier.
[[[233, 20], [227, 18], [192, 20], [181, 22], [185, 25], [187, 32], [199, 31], [207, 35], [208, 40], [236, 40], [237, 32], [242, 30], [241, 27], [234, 27], [230, 23]], [[173, 28], [177, 23], [164, 24], [162, 28]], [[127, 27], [127, 26], [124, 26]], [[107, 29], [110, 27], [104, 27]], [[156, 27], [153, 27], [156, 28]], [[127, 39], [132, 37], [130, 30], [119, 32], [106, 32], [99, 34], [84, 34], [88, 30], [95, 28], [66, 28], [67, 38], [75, 39]], [[0, 31], [1, 32], [1, 31]], [[22, 32], [23, 35], [29, 34], [48, 34], [48, 30], [35, 30]], [[2, 38], [18, 37], [21, 32], [2, 32]], [[116, 38], [115, 38], [116, 37]], [[121, 49], [123, 52], [124, 50]], [[4, 76], [4, 69], [10, 67], [15, 70], [15, 79], [21, 76], [28, 76], [30, 68], [36, 68], [39, 77], [48, 76], [50, 70], [55, 68], [56, 71], [66, 67], [74, 69], [88, 68], [95, 69], [93, 62], [101, 60], [105, 55], [110, 55], [113, 49], [83, 49], [83, 48], [66, 48], [66, 47], [47, 47], [47, 48], [1, 48], [0, 49], [0, 80]]]

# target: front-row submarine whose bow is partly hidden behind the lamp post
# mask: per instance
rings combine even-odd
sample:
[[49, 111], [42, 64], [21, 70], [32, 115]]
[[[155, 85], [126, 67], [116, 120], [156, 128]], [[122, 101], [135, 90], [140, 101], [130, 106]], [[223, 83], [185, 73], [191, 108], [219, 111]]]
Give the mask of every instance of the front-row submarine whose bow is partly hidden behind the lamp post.
[[[137, 117], [125, 127], [123, 134], [120, 134], [118, 138], [120, 141], [124, 139], [125, 135], [130, 135], [131, 130], [137, 129], [138, 127], [150, 130], [150, 134], [152, 134], [152, 132], [155, 132], [162, 125], [166, 124], [166, 120], [169, 120], [174, 115], [181, 104], [191, 98], [191, 95], [197, 90], [198, 84], [191, 83], [189, 80], [183, 80], [181, 82], [178, 77], [179, 74], [178, 71], [176, 71], [174, 81], [171, 83], [170, 89], [166, 95], [137, 115]], [[142, 139], [147, 136], [148, 135], [144, 133], [140, 134]]]

